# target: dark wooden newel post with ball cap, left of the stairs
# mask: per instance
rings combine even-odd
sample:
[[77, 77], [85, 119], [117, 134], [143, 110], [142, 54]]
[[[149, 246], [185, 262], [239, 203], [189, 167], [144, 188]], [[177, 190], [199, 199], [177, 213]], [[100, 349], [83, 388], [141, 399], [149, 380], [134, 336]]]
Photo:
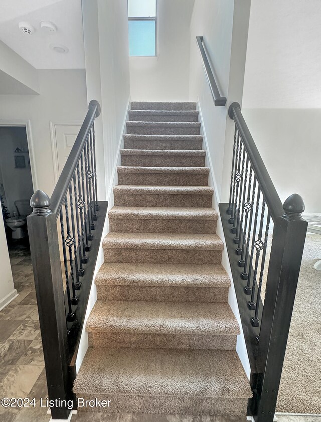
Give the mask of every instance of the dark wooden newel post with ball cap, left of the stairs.
[[[50, 199], [37, 190], [27, 218], [41, 337], [44, 349], [48, 396], [65, 400], [68, 383], [68, 344], [64, 291], [61, 275], [56, 215], [50, 210]], [[65, 406], [51, 408], [52, 419], [67, 419]]]

